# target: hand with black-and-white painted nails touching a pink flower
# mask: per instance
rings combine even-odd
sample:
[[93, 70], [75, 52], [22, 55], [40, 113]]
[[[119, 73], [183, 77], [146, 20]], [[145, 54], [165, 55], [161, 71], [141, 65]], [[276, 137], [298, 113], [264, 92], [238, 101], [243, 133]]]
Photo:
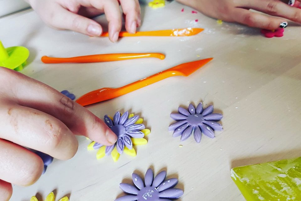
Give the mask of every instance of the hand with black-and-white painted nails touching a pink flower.
[[[177, 0], [197, 9], [209, 17], [228, 22], [238, 22], [251, 27], [275, 30], [285, 28], [287, 21], [281, 18], [254, 13], [249, 9], [286, 18], [301, 23], [301, 9], [294, 8], [279, 0]], [[296, 3], [300, 4], [296, 1]], [[296, 4], [295, 3], [295, 4]]]

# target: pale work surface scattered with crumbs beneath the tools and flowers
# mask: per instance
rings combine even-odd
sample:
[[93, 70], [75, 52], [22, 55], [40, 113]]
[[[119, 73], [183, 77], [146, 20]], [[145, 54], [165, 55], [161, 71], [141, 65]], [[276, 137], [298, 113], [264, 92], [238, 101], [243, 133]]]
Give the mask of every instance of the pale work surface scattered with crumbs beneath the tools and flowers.
[[[184, 12], [181, 9], [184, 8]], [[34, 11], [0, 19], [0, 39], [9, 46], [30, 50], [22, 73], [77, 98], [103, 87], [120, 87], [184, 62], [214, 57], [189, 77], [172, 77], [127, 95], [87, 106], [98, 117], [127, 111], [144, 118], [151, 133], [148, 144], [136, 146], [137, 156], [126, 154], [117, 162], [96, 159], [97, 150], [79, 136], [77, 154], [68, 161], [54, 160], [46, 174], [29, 187], [13, 187], [12, 201], [26, 201], [55, 191], [57, 199], [114, 201], [122, 195], [120, 182], [131, 174], [144, 177], [167, 170], [184, 190], [179, 201], [245, 200], [230, 177], [230, 169], [301, 155], [301, 37], [300, 26], [289, 22], [282, 38], [265, 38], [259, 29], [238, 24], [218, 24], [176, 2], [165, 8], [142, 5], [141, 31], [200, 27], [191, 37], [128, 37], [118, 43], [72, 31], [48, 28]], [[198, 19], [198, 22], [195, 22]], [[98, 18], [105, 21], [104, 16]], [[161, 52], [156, 58], [87, 64], [44, 64], [44, 55], [74, 57], [105, 53]], [[224, 131], [200, 144], [191, 136], [184, 142], [172, 138], [169, 117], [178, 106], [200, 101], [214, 105], [224, 115]], [[76, 123], [76, 122], [74, 122]], [[183, 145], [180, 147], [179, 145]]]

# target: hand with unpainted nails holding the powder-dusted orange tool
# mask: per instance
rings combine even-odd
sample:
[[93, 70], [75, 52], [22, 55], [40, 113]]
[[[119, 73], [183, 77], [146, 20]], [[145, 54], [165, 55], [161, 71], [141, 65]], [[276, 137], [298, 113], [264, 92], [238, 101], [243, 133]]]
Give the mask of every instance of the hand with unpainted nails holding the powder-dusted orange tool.
[[[109, 38], [118, 40], [121, 30], [121, 13], [119, 3], [125, 15], [125, 28], [135, 33], [140, 26], [140, 5], [138, 0], [26, 0], [41, 19], [56, 29], [68, 29], [82, 34], [99, 36], [102, 34], [100, 24], [86, 17], [104, 13], [109, 22]], [[86, 16], [86, 17], [83, 17]]]

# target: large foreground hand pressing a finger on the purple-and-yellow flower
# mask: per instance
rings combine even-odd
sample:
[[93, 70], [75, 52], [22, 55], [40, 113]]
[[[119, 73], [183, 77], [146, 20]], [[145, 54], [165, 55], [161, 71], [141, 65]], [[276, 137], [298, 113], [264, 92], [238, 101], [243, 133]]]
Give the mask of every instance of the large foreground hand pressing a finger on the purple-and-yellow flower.
[[1, 201], [10, 198], [11, 183], [28, 186], [42, 174], [42, 159], [24, 147], [67, 160], [77, 152], [75, 135], [84, 135], [104, 145], [112, 145], [117, 140], [102, 120], [67, 96], [0, 67]]

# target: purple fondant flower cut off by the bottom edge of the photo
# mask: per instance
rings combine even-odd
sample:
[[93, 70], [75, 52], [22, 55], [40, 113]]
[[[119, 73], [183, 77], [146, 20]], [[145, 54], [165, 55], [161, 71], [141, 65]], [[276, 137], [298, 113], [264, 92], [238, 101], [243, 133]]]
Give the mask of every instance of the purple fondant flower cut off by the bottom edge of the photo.
[[183, 190], [179, 188], [173, 188], [177, 185], [178, 180], [176, 178], [167, 179], [166, 171], [161, 171], [154, 179], [154, 173], [151, 169], [148, 169], [144, 182], [137, 174], [132, 174], [132, 179], [135, 186], [120, 183], [120, 188], [127, 194], [115, 201], [167, 201], [180, 198], [183, 195]]

